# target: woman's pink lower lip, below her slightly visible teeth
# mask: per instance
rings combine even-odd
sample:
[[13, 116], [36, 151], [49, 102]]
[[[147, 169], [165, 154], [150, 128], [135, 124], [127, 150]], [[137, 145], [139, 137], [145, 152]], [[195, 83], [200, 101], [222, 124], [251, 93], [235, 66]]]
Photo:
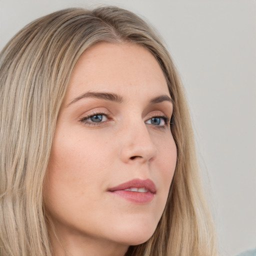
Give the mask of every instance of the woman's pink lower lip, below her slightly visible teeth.
[[150, 202], [154, 198], [154, 193], [150, 191], [134, 192], [134, 191], [127, 191], [127, 190], [115, 190], [115, 191], [111, 191], [111, 193], [119, 195], [124, 199], [137, 204]]

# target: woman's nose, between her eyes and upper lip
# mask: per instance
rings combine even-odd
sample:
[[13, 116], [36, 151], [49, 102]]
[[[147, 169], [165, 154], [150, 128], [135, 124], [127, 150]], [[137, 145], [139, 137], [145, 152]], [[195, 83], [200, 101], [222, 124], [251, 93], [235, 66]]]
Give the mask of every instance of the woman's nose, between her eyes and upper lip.
[[140, 119], [135, 125], [133, 119], [128, 126], [125, 126], [122, 134], [120, 158], [123, 162], [145, 163], [156, 156], [157, 148], [143, 120]]

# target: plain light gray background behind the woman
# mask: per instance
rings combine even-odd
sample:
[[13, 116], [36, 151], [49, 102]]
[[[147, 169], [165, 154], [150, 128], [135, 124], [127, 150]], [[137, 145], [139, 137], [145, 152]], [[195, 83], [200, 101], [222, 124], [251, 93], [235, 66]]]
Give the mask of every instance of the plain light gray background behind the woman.
[[256, 1], [0, 0], [0, 49], [41, 15], [100, 3], [128, 8], [160, 31], [185, 85], [222, 253], [256, 246]]

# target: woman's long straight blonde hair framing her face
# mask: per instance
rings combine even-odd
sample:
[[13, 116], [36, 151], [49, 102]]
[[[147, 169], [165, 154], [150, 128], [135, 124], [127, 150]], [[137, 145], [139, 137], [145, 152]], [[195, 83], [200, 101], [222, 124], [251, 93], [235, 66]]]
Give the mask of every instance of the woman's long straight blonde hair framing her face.
[[69, 8], [41, 17], [0, 52], [0, 255], [52, 255], [42, 186], [55, 123], [76, 61], [99, 41], [129, 41], [148, 49], [161, 66], [173, 99], [177, 164], [167, 203], [152, 237], [130, 246], [126, 255], [216, 255], [175, 66], [147, 23], [110, 6]]

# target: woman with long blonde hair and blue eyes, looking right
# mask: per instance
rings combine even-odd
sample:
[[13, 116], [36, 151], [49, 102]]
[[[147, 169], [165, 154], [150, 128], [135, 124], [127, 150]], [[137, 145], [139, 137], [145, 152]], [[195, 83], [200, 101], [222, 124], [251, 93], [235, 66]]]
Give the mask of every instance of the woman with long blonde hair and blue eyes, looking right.
[[117, 7], [65, 9], [0, 54], [0, 255], [216, 255], [177, 71]]

